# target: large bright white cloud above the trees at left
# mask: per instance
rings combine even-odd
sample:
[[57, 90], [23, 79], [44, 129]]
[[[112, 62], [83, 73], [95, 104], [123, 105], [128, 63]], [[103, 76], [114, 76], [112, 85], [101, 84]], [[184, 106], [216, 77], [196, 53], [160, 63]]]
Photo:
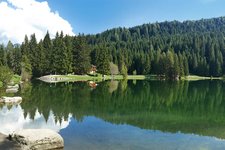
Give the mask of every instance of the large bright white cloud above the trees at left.
[[40, 40], [47, 30], [51, 36], [61, 30], [74, 35], [70, 23], [52, 12], [46, 1], [0, 0], [0, 22], [0, 43], [21, 43], [25, 34], [33, 33]]

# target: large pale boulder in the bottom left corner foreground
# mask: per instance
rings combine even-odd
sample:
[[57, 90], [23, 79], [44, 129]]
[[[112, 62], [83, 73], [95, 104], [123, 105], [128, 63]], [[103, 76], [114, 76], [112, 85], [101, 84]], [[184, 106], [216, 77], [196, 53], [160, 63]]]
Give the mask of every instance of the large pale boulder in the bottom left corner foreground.
[[24, 129], [9, 135], [24, 150], [53, 150], [63, 149], [63, 138], [49, 129]]

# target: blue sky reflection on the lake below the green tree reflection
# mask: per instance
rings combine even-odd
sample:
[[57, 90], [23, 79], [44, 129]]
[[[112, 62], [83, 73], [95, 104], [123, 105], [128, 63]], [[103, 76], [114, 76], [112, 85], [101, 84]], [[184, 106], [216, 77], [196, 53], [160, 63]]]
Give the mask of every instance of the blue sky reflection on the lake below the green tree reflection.
[[66, 150], [224, 150], [225, 140], [194, 134], [144, 130], [115, 125], [95, 117], [71, 120], [60, 131]]

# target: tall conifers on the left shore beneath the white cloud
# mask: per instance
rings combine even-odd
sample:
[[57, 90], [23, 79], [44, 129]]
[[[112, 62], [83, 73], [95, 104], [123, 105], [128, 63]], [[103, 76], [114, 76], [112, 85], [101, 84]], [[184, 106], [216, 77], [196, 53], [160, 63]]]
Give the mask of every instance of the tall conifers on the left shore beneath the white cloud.
[[26, 79], [47, 74], [85, 74], [90, 69], [90, 48], [84, 36], [64, 36], [56, 33], [54, 39], [47, 33], [37, 42], [35, 34], [24, 42], [0, 47], [0, 65], [8, 66]]

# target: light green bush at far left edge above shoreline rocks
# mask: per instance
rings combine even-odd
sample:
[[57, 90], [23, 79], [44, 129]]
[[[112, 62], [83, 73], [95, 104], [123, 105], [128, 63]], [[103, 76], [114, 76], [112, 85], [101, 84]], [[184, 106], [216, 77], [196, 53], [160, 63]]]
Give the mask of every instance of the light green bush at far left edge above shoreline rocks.
[[0, 82], [6, 86], [12, 79], [13, 72], [6, 66], [0, 66]]

